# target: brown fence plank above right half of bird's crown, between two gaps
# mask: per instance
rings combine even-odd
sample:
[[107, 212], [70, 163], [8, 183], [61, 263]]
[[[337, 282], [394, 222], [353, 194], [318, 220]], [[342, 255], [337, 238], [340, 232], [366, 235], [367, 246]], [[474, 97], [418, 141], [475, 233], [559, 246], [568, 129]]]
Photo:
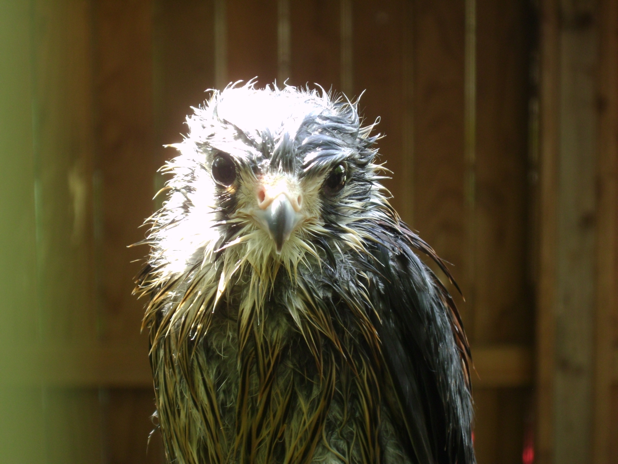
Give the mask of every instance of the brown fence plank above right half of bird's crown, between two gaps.
[[339, 11], [339, 2], [290, 1], [290, 84], [341, 92]]

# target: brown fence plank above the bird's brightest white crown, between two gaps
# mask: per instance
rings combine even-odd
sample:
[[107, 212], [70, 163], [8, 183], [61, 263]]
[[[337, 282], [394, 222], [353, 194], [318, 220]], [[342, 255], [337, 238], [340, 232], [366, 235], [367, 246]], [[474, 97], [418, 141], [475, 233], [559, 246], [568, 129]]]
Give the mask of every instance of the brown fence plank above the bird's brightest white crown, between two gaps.
[[277, 1], [228, 0], [227, 78], [258, 77], [258, 87], [277, 78]]

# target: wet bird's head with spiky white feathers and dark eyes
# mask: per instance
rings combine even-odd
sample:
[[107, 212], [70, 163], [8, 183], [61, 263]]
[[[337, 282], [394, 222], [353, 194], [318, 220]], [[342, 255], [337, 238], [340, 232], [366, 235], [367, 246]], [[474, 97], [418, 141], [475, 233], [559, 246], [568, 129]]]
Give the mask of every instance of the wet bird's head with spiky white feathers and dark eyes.
[[362, 248], [354, 224], [387, 201], [375, 124], [361, 126], [356, 102], [249, 82], [193, 110], [163, 168], [169, 197], [151, 218], [156, 280], [199, 267], [221, 293], [247, 267], [274, 283], [280, 267], [292, 276], [301, 261], [320, 262], [316, 243]]

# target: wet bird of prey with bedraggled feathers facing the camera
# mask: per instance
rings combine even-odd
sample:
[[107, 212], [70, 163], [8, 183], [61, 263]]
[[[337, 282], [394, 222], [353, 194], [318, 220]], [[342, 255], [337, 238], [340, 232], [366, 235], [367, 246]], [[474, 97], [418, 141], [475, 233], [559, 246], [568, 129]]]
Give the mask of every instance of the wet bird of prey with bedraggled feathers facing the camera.
[[474, 463], [468, 343], [417, 253], [449, 274], [358, 100], [250, 81], [193, 111], [136, 289], [169, 462]]

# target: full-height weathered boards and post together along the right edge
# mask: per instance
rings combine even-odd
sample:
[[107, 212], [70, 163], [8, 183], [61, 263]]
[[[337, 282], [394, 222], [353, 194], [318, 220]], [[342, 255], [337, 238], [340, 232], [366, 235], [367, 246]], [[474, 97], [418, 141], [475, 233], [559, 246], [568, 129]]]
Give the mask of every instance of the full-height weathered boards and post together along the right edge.
[[537, 450], [618, 462], [618, 5], [541, 2]]

